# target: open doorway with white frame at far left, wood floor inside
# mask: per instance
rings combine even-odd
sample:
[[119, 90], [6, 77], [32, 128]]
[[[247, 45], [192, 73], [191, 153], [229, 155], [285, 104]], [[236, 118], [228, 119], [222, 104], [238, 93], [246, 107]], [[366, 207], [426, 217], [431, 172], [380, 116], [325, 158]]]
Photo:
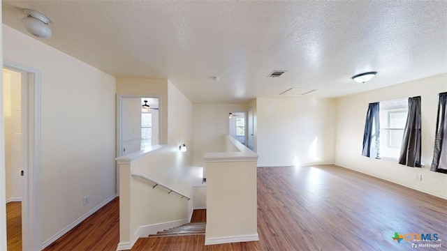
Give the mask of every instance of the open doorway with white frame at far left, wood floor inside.
[[37, 250], [40, 72], [5, 61], [2, 75], [7, 246]]

